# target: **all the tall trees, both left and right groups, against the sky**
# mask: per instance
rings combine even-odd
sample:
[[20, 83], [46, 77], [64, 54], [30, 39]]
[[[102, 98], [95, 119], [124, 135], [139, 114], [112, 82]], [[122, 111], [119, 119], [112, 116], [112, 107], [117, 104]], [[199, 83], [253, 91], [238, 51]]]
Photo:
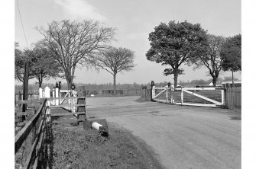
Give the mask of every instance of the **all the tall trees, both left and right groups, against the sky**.
[[[116, 91], [118, 72], [134, 68], [134, 51], [111, 46], [115, 41], [115, 28], [103, 27], [98, 21], [52, 21], [47, 27], [37, 27], [42, 39], [33, 43], [31, 49], [18, 49], [15, 42], [15, 79], [24, 81], [24, 65], [29, 63], [28, 78], [36, 78], [39, 87], [44, 79], [64, 78], [67, 87], [73, 84], [77, 67], [113, 75]], [[149, 33], [151, 48], [146, 57], [149, 61], [170, 65], [164, 75], [173, 75], [177, 87], [178, 75], [184, 73], [180, 65], [205, 66], [212, 76], [213, 85], [219, 72], [241, 71], [241, 34], [220, 37], [207, 33], [200, 24], [187, 21], [160, 23]]]

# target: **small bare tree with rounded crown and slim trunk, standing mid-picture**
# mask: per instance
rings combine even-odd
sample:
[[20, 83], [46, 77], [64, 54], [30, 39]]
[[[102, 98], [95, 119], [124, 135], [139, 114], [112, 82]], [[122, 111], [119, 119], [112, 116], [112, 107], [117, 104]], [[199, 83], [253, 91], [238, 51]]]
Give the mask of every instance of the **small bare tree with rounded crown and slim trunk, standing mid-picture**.
[[134, 52], [130, 49], [110, 47], [90, 60], [96, 68], [104, 69], [113, 75], [113, 89], [116, 94], [115, 78], [118, 72], [131, 71], [134, 65]]

